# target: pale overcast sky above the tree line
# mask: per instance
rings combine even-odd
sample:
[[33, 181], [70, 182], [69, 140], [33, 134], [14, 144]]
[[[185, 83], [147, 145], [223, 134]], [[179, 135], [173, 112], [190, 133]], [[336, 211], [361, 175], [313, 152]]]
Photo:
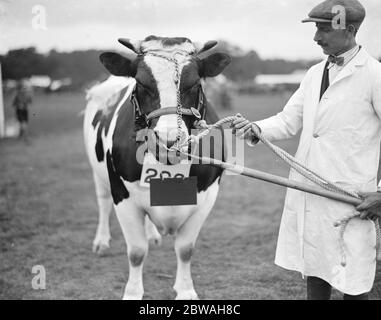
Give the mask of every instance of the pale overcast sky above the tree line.
[[[122, 49], [117, 38], [224, 39], [262, 58], [322, 57], [315, 25], [300, 21], [321, 0], [0, 0], [0, 53], [35, 46], [46, 52]], [[381, 0], [367, 10], [358, 42], [381, 57]], [[39, 7], [40, 6], [40, 7]], [[46, 12], [46, 30], [42, 11]]]

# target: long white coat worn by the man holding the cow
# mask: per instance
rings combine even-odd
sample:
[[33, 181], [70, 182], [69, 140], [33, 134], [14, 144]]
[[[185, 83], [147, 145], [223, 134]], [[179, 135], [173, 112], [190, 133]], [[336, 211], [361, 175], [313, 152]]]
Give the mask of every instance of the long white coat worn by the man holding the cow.
[[[270, 140], [302, 128], [296, 158], [349, 190], [377, 190], [381, 140], [381, 64], [364, 48], [341, 70], [319, 102], [326, 61], [313, 66], [284, 110], [258, 121]], [[291, 170], [290, 179], [310, 183]], [[353, 206], [287, 190], [275, 263], [329, 282], [340, 291], [369, 292], [376, 269], [374, 223], [352, 219], [345, 231], [347, 266], [341, 267], [339, 228]]]

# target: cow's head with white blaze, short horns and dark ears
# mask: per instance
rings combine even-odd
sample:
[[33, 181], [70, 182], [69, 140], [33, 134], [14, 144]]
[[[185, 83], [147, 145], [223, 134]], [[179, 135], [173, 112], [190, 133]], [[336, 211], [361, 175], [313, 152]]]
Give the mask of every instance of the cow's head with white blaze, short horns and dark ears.
[[[143, 41], [119, 39], [119, 42], [137, 53], [137, 57], [106, 52], [100, 56], [103, 65], [115, 76], [135, 78], [139, 111], [148, 116], [147, 125], [160, 142], [170, 148], [179, 137], [180, 124], [181, 139], [187, 139], [198, 117], [195, 110], [205, 114], [206, 106], [200, 104], [200, 99], [205, 100], [200, 79], [220, 74], [231, 58], [223, 53], [199, 56], [214, 47], [215, 41], [207, 42], [201, 49], [187, 38], [149, 36]], [[174, 109], [179, 103], [183, 108], [181, 123]]]

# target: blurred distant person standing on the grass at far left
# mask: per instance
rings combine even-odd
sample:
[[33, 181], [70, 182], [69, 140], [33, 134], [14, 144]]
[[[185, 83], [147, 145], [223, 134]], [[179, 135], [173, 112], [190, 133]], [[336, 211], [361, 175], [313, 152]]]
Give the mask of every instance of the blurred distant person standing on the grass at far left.
[[22, 80], [17, 84], [16, 96], [13, 100], [13, 106], [16, 111], [16, 118], [19, 122], [19, 138], [28, 139], [28, 109], [29, 105], [32, 103], [32, 94], [26, 83]]

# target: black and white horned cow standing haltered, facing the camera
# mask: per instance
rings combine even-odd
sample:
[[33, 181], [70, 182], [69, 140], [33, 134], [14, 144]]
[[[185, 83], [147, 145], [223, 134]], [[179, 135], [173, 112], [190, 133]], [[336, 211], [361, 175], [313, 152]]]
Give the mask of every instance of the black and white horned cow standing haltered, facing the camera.
[[[136, 154], [146, 139], [138, 139], [138, 132], [154, 132], [169, 152], [168, 148], [179, 141], [179, 133], [181, 141], [187, 141], [196, 120], [216, 122], [217, 114], [205, 99], [201, 79], [220, 74], [231, 58], [224, 53], [205, 54], [216, 41], [207, 42], [201, 49], [180, 37], [118, 41], [134, 56], [115, 52], [100, 55], [111, 76], [89, 91], [84, 117], [84, 140], [99, 207], [93, 250], [102, 253], [109, 248], [109, 216], [114, 207], [129, 262], [123, 299], [143, 298], [142, 269], [149, 243], [159, 243], [165, 235], [175, 238], [176, 299], [198, 299], [190, 261], [200, 229], [215, 203], [223, 170], [192, 164], [189, 176], [197, 177], [197, 204], [151, 206], [149, 188], [140, 184], [142, 164]], [[214, 153], [223, 157], [223, 152]], [[154, 157], [159, 160], [157, 154]]]

